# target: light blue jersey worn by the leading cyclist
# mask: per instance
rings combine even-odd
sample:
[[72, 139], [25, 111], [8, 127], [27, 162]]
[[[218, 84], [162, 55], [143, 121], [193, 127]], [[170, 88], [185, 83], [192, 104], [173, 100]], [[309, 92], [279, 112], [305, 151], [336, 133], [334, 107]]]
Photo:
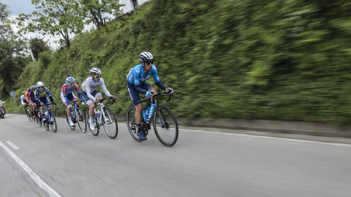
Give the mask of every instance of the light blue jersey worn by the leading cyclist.
[[151, 75], [154, 77], [155, 82], [160, 81], [160, 78], [157, 75], [157, 69], [155, 65], [152, 64], [152, 69], [150, 70], [150, 72], [145, 74], [143, 65], [139, 64], [137, 66], [134, 66], [129, 71], [127, 75], [127, 81], [134, 85], [140, 85], [143, 84], [147, 79], [149, 79]]

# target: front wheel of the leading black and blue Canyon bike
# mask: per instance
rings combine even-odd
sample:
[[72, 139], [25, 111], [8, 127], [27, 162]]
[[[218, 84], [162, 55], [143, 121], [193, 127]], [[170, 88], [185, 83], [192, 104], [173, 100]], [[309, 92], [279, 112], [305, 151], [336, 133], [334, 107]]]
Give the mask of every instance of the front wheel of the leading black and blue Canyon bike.
[[159, 106], [153, 116], [153, 127], [157, 139], [166, 147], [173, 146], [178, 140], [178, 123], [171, 109]]

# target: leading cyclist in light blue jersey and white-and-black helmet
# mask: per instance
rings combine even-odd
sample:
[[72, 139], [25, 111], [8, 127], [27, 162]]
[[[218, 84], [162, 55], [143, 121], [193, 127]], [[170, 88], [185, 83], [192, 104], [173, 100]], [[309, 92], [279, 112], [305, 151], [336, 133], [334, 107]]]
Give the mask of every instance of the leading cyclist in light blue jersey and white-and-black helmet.
[[[165, 87], [164, 84], [160, 81], [160, 78], [157, 75], [156, 66], [153, 65], [154, 57], [149, 52], [143, 52], [139, 55], [139, 61], [141, 64], [134, 66], [127, 75], [127, 88], [129, 95], [135, 105], [135, 123], [138, 127], [138, 136], [140, 140], [146, 140], [146, 136], [141, 131], [141, 112], [143, 111], [143, 104], [140, 101], [139, 93], [145, 94], [145, 96], [150, 99], [153, 94], [157, 94], [156, 89], [146, 80], [151, 76], [154, 78], [156, 85], [166, 90], [169, 94], [173, 93], [173, 89], [170, 87]], [[150, 125], [147, 125], [150, 129]]]

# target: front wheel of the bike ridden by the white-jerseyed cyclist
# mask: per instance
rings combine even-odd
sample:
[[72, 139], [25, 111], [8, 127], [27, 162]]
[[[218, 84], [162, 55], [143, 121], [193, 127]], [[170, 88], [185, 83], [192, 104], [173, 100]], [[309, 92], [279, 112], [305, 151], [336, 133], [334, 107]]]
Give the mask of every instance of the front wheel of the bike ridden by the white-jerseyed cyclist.
[[102, 125], [106, 131], [108, 137], [114, 139], [118, 134], [117, 119], [113, 114], [112, 110], [108, 107], [104, 109], [104, 115], [102, 115]]

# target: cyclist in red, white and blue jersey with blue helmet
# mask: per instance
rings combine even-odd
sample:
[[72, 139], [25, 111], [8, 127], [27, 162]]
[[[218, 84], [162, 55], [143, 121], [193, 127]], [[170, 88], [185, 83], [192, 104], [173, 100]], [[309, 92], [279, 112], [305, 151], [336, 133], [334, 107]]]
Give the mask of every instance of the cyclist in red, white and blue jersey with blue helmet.
[[[74, 123], [72, 121], [71, 110], [69, 110], [69, 108], [71, 108], [72, 105], [69, 102], [78, 100], [77, 97], [73, 93], [74, 90], [77, 91], [79, 99], [82, 100], [83, 98], [82, 98], [82, 95], [80, 94], [78, 84], [74, 83], [73, 77], [67, 77], [66, 83], [62, 86], [61, 99], [62, 99], [62, 102], [65, 104], [65, 106], [68, 109], [67, 110], [68, 122], [69, 122], [69, 125], [71, 125], [72, 127], [74, 126]], [[82, 102], [82, 104], [85, 105], [84, 102]], [[79, 103], [77, 103], [77, 107], [79, 107]]]

